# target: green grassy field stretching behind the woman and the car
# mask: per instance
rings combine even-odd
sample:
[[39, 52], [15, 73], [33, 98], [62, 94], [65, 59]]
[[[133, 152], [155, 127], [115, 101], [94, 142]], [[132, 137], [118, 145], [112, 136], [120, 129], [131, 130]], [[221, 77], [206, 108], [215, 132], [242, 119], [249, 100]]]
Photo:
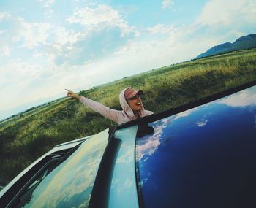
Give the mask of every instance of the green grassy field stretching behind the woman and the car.
[[[256, 49], [165, 66], [79, 94], [121, 109], [118, 94], [132, 86], [144, 91], [144, 107], [157, 113], [252, 80], [256, 80]], [[0, 184], [12, 180], [54, 145], [96, 134], [113, 125], [79, 101], [66, 97], [2, 121]]]

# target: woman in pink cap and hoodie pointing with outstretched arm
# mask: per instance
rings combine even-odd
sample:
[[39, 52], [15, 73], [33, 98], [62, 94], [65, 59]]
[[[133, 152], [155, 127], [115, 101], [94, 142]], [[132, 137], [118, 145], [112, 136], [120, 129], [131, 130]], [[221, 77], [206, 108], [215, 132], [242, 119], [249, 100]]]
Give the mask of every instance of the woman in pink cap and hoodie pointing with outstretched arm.
[[97, 101], [87, 99], [84, 96], [79, 96], [71, 90], [67, 90], [68, 97], [78, 99], [80, 102], [86, 104], [86, 106], [90, 107], [95, 112], [99, 112], [99, 114], [109, 118], [110, 120], [113, 120], [118, 124], [153, 114], [153, 112], [144, 109], [140, 99], [140, 95], [142, 94], [142, 90], [135, 90], [134, 88], [130, 87], [122, 90], [119, 94], [119, 101], [123, 110], [120, 111], [116, 109], [110, 109], [109, 107], [105, 107], [105, 105], [100, 104]]

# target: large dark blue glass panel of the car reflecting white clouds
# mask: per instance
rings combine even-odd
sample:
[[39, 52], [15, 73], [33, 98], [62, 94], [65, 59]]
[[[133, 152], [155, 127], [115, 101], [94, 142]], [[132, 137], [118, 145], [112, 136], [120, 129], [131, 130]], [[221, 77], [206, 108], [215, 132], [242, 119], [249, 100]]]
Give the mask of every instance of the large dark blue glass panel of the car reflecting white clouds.
[[255, 205], [256, 87], [149, 123], [136, 138], [140, 207]]

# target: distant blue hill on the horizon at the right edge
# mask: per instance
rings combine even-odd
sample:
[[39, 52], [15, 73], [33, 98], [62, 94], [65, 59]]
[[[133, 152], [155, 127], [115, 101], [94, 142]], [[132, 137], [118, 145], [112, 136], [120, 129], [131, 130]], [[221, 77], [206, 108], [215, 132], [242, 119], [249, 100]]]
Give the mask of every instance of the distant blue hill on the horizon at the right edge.
[[219, 53], [226, 53], [233, 50], [243, 50], [256, 47], [256, 34], [249, 34], [247, 36], [239, 37], [235, 42], [225, 42], [223, 44], [211, 47], [205, 53], [201, 53], [196, 58], [203, 58], [209, 55], [217, 55]]

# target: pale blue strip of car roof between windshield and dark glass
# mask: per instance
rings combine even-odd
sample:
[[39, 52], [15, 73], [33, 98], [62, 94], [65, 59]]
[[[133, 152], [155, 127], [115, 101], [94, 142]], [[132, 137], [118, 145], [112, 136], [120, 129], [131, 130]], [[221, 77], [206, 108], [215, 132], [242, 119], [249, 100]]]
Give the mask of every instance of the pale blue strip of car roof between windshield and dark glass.
[[135, 135], [137, 126], [117, 130], [115, 137], [122, 145], [113, 171], [108, 207], [138, 207], [135, 178]]

